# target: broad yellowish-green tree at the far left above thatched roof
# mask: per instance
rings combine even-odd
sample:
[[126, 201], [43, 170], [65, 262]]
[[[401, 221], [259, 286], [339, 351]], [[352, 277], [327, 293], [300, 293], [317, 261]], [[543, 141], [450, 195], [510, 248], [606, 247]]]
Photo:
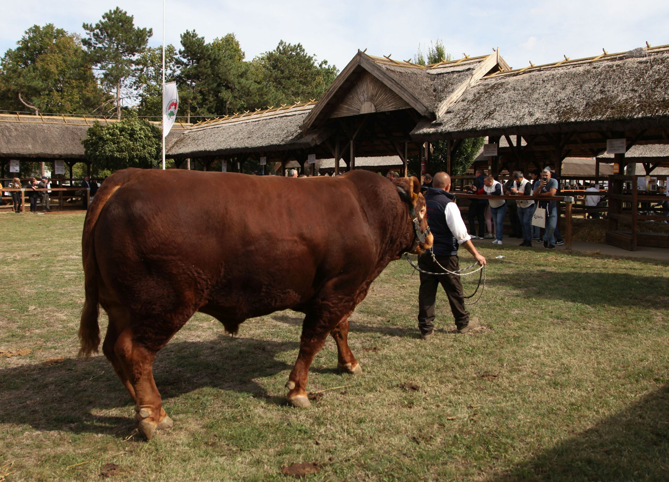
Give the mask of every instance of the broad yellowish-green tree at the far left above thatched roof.
[[25, 31], [0, 64], [0, 109], [86, 114], [106, 100], [77, 35], [47, 23]]

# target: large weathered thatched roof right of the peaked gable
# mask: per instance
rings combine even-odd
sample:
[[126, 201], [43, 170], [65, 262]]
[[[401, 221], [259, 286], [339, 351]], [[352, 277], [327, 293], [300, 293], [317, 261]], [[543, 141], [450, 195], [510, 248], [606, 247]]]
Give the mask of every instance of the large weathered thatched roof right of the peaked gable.
[[669, 126], [667, 49], [557, 64], [483, 78], [441, 118], [419, 122], [411, 136], [439, 140]]

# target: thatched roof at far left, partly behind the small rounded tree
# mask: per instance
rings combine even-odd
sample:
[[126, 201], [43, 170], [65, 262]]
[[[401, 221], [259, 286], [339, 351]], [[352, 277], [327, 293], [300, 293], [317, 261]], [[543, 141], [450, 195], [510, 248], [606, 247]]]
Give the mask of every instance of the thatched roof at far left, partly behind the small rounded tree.
[[[0, 156], [42, 159], [82, 159], [88, 128], [96, 119], [66, 116], [0, 114]], [[103, 119], [110, 124], [116, 119]], [[155, 122], [154, 122], [155, 123]], [[189, 124], [175, 124], [166, 138], [170, 146]]]

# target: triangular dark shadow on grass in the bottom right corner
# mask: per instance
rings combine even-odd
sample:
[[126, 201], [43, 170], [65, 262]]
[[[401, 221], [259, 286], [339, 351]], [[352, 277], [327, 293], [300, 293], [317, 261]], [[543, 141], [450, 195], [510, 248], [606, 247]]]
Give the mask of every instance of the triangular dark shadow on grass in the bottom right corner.
[[669, 474], [669, 387], [488, 482], [662, 481]]

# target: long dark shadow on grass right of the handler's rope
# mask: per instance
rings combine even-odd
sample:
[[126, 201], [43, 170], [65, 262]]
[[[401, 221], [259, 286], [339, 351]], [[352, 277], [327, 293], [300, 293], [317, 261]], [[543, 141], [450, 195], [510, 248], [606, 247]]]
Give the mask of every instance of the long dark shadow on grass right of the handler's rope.
[[535, 269], [524, 271], [522, 277], [497, 274], [488, 277], [486, 283], [492, 287], [514, 289], [513, 294], [520, 297], [564, 299], [587, 305], [657, 310], [658, 306], [666, 306], [669, 302], [669, 278], [631, 273]]

